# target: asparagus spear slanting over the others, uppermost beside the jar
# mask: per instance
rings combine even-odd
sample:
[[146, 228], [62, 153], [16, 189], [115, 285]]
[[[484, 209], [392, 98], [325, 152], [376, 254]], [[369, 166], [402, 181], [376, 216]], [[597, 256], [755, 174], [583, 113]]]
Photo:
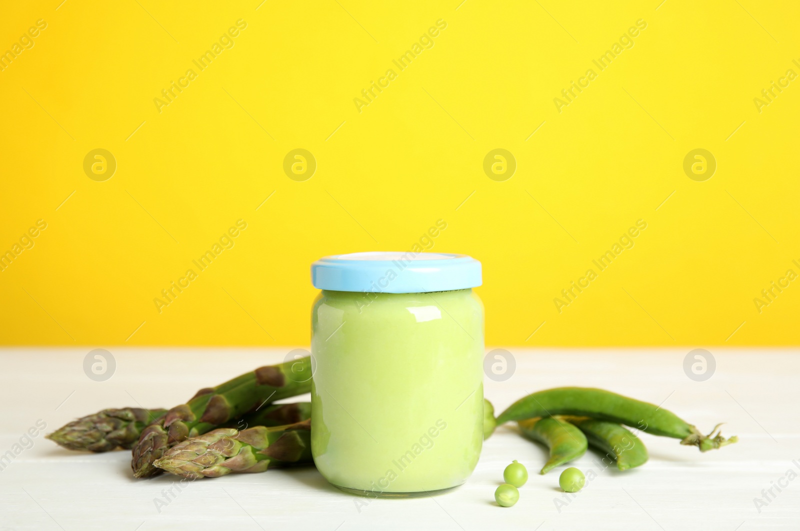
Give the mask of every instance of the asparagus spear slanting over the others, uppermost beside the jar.
[[[153, 462], [175, 444], [219, 428], [227, 421], [290, 396], [310, 392], [310, 357], [269, 365], [246, 372], [215, 388], [200, 389], [186, 404], [178, 405], [142, 430], [130, 462], [134, 477], [150, 477], [160, 471]], [[302, 381], [301, 381], [302, 380]]]

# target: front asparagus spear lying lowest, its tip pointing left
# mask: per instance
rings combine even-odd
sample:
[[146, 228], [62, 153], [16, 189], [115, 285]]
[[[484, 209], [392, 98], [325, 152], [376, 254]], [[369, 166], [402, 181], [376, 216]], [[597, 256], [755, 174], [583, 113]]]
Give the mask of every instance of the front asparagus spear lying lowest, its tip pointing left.
[[230, 473], [264, 472], [270, 465], [300, 465], [311, 458], [311, 421], [241, 432], [215, 429], [190, 437], [164, 453], [154, 465], [169, 473], [196, 480]]

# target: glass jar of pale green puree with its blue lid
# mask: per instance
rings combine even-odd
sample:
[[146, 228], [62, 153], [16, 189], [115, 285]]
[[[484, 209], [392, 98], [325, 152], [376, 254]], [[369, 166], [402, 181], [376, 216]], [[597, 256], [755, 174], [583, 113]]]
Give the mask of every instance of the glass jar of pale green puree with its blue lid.
[[369, 252], [311, 266], [311, 450], [331, 484], [370, 497], [462, 485], [483, 423], [481, 263]]

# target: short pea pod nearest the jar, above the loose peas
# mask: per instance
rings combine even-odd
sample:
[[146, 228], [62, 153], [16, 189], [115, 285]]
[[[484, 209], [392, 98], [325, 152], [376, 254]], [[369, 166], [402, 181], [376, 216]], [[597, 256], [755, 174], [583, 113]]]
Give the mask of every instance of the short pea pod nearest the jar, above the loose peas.
[[519, 420], [522, 435], [546, 445], [550, 449], [550, 459], [542, 467], [542, 474], [557, 466], [578, 459], [586, 453], [586, 436], [581, 430], [566, 420], [552, 417]]

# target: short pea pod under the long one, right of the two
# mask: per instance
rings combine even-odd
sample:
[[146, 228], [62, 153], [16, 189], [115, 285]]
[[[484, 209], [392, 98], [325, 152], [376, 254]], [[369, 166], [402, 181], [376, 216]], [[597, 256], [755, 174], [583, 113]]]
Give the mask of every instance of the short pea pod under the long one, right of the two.
[[589, 445], [614, 457], [620, 470], [633, 469], [647, 462], [647, 449], [641, 439], [619, 424], [586, 417], [566, 416], [564, 420], [578, 426]]

